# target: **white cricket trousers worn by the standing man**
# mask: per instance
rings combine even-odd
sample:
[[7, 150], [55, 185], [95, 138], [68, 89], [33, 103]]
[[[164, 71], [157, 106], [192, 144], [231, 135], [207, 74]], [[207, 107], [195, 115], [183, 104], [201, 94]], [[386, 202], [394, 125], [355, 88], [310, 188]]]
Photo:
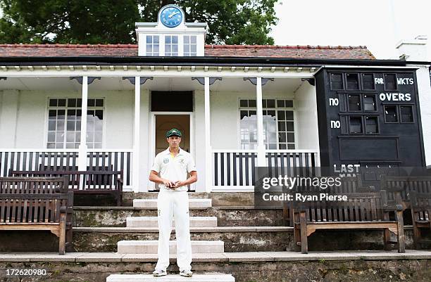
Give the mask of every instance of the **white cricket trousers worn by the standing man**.
[[158, 192], [157, 197], [158, 261], [156, 270], [166, 270], [169, 266], [169, 239], [173, 219], [177, 238], [177, 265], [180, 271], [191, 270], [189, 195], [187, 191], [167, 191], [163, 188]]

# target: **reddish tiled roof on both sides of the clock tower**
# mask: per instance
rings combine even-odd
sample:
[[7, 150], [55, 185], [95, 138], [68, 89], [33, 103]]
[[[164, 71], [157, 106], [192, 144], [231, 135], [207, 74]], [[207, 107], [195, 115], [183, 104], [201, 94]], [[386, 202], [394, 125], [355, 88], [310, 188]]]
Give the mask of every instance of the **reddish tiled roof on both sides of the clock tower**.
[[[0, 44], [0, 57], [133, 57], [136, 44]], [[208, 57], [375, 60], [366, 46], [206, 45]]]

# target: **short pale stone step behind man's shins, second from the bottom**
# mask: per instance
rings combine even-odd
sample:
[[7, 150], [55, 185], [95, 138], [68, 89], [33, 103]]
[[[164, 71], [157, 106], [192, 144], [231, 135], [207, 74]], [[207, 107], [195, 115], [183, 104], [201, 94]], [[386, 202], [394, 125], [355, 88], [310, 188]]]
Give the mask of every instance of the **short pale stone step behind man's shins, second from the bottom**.
[[[119, 254], [156, 254], [158, 241], [119, 241], [117, 243]], [[223, 241], [192, 241], [193, 253], [223, 253]], [[177, 241], [169, 241], [169, 253], [177, 253]]]

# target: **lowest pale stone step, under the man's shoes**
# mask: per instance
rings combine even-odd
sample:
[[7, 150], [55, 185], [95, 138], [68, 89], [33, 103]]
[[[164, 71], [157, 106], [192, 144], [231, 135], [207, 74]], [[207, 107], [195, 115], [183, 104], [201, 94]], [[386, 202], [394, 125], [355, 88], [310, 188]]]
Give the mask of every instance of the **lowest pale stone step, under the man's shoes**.
[[192, 277], [182, 277], [178, 274], [154, 277], [151, 274], [111, 274], [106, 282], [235, 282], [230, 274], [193, 274]]

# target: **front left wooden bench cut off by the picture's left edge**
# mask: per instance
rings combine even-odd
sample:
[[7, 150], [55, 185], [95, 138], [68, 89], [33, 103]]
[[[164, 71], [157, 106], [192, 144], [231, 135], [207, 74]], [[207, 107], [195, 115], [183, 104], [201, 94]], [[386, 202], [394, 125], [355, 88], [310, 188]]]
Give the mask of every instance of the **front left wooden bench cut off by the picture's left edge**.
[[0, 177], [0, 230], [48, 230], [72, 248], [73, 192], [67, 177]]

